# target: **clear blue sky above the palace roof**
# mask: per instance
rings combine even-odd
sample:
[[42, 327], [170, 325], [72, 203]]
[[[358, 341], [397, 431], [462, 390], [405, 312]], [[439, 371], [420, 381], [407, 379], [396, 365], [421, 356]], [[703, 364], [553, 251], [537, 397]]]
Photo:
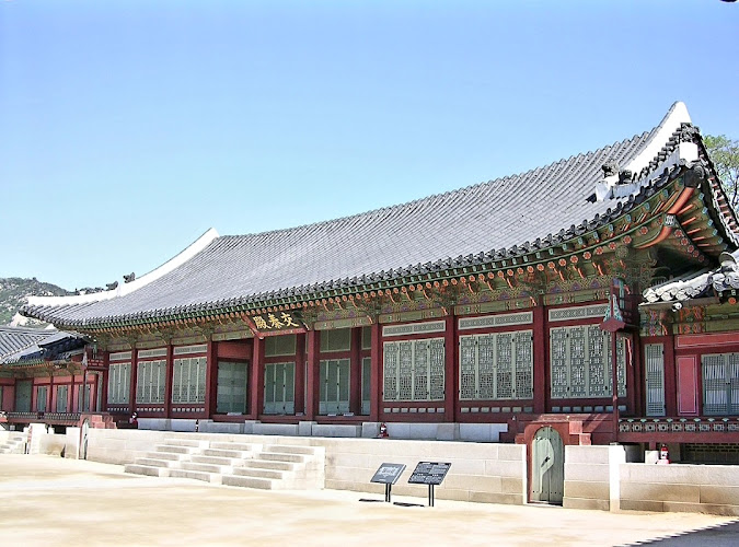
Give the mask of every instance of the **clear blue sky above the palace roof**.
[[677, 100], [739, 138], [737, 44], [719, 0], [0, 1], [0, 277], [102, 287], [210, 226], [527, 171]]

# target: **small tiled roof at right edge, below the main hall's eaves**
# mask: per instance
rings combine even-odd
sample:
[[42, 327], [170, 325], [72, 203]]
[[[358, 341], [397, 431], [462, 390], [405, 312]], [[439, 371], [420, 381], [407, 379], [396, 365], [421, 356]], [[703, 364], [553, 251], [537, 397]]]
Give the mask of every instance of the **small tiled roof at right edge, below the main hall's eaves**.
[[644, 291], [644, 299], [649, 304], [660, 302], [682, 302], [703, 295], [713, 295], [739, 289], [739, 249], [734, 253], [721, 253], [721, 265], [715, 269], [705, 269], [666, 283], [650, 287]]

